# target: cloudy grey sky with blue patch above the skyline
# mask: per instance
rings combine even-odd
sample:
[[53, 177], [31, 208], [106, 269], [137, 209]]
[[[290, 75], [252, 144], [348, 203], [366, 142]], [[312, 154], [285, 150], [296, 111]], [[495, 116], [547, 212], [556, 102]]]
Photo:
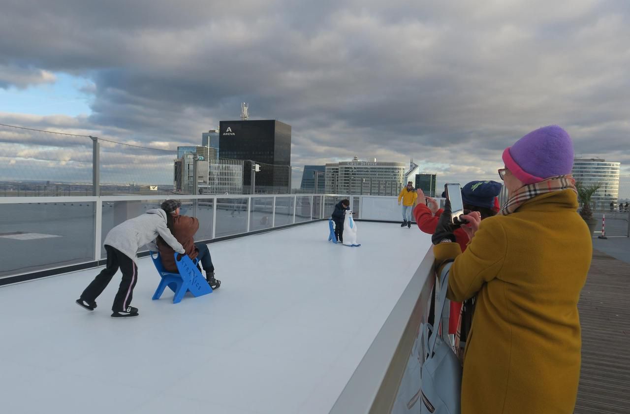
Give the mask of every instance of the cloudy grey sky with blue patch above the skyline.
[[[2, 4], [4, 124], [175, 149], [245, 101], [292, 125], [294, 166], [413, 157], [438, 183], [496, 179], [501, 151], [550, 124], [630, 166], [627, 0]], [[83, 157], [69, 138], [0, 129], [0, 176], [27, 149]]]

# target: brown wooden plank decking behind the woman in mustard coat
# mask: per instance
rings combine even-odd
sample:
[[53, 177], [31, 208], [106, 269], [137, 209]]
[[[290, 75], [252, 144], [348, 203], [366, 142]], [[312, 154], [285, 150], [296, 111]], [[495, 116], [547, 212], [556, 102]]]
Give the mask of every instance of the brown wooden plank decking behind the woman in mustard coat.
[[630, 265], [593, 250], [578, 304], [582, 365], [575, 414], [630, 413], [629, 304]]

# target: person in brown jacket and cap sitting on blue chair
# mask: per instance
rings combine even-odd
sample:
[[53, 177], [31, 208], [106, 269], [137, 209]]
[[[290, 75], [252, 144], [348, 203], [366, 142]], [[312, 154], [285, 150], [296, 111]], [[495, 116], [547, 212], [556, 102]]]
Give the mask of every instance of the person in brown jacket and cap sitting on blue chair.
[[[210, 250], [205, 243], [195, 243], [193, 237], [199, 229], [199, 221], [197, 217], [180, 216], [181, 203], [178, 200], [166, 200], [161, 204], [161, 209], [166, 212], [166, 226], [173, 233], [173, 236], [184, 246], [186, 255], [191, 260], [197, 258], [201, 263], [207, 280], [212, 290], [219, 289], [221, 280], [214, 277], [214, 265]], [[177, 265], [175, 264], [175, 250], [169, 246], [161, 237], [157, 238], [157, 248], [162, 259], [162, 265], [167, 272], [177, 273]], [[198, 266], [198, 265], [197, 265]]]

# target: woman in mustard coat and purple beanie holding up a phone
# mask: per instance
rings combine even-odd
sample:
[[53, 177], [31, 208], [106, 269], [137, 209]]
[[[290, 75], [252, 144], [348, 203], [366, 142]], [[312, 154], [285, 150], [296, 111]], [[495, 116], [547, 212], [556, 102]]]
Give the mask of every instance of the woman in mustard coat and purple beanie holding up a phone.
[[508, 201], [481, 222], [462, 216], [471, 239], [454, 243], [450, 205], [433, 234], [438, 267], [455, 258], [447, 297], [476, 296], [464, 350], [462, 414], [571, 414], [580, 379], [578, 300], [592, 235], [577, 213], [573, 144], [558, 126], [503, 152]]

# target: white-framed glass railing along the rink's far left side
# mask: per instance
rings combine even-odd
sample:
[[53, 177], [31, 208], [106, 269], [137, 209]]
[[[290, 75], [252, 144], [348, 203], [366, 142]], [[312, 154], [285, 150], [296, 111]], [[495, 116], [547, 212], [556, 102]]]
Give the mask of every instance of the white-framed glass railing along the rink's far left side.
[[[379, 221], [400, 221], [401, 212], [398, 207], [397, 197], [377, 196], [377, 195], [339, 195], [339, 194], [251, 194], [251, 195], [171, 195], [172, 198], [180, 200], [188, 207], [190, 212], [186, 214], [197, 216], [200, 222], [207, 223], [204, 232], [198, 233], [199, 240], [212, 240], [226, 236], [242, 236], [253, 231], [274, 229], [282, 226], [289, 226], [302, 222], [313, 222], [329, 217], [333, 212], [335, 204], [343, 198], [350, 200], [350, 208], [355, 212], [357, 219], [369, 219]], [[113, 226], [120, 222], [137, 216], [144, 209], [156, 208], [164, 195], [105, 195], [105, 196], [69, 196], [69, 197], [0, 197], [0, 209], [5, 209], [9, 214], [0, 214], [0, 236], [5, 234], [5, 238], [0, 238], [0, 243], [6, 243], [8, 250], [4, 254], [8, 260], [0, 261], [0, 279], [7, 276], [31, 273], [40, 270], [47, 270], [54, 267], [64, 267], [81, 263], [90, 263], [101, 260], [103, 256], [103, 236]], [[123, 203], [118, 207], [118, 203]], [[124, 204], [124, 202], [130, 202]], [[134, 203], [131, 203], [134, 202]], [[139, 202], [144, 202], [144, 204]], [[108, 203], [110, 205], [108, 205]], [[51, 208], [52, 205], [62, 206], [66, 204], [81, 204], [82, 221], [71, 222], [74, 210], [59, 212], [59, 208]], [[93, 204], [91, 210], [86, 209], [86, 205]], [[112, 205], [113, 204], [113, 205]], [[26, 205], [30, 205], [26, 208]], [[35, 205], [35, 206], [34, 206]], [[41, 207], [39, 207], [40, 205]], [[211, 205], [211, 207], [210, 207]], [[11, 207], [13, 206], [13, 207]], [[25, 207], [20, 207], [25, 206]], [[105, 211], [104, 207], [109, 208]], [[212, 211], [210, 211], [210, 208]], [[238, 220], [226, 220], [227, 210], [238, 211]], [[47, 221], [46, 217], [51, 212], [57, 211], [56, 218]], [[247, 216], [243, 217], [243, 213]], [[4, 216], [4, 218], [2, 218]], [[60, 218], [61, 217], [61, 218]], [[210, 218], [212, 217], [212, 218]], [[281, 218], [282, 217], [282, 218]], [[63, 224], [65, 219], [69, 224]], [[253, 220], [256, 219], [256, 222]], [[260, 221], [263, 219], [263, 221]], [[56, 220], [56, 221], [55, 221]], [[237, 223], [238, 221], [238, 223]], [[20, 222], [21, 224], [16, 224]], [[37, 260], [33, 258], [18, 259], [21, 255], [17, 251], [13, 255], [13, 250], [17, 250], [15, 243], [8, 243], [6, 234], [11, 233], [47, 233], [37, 231], [38, 224], [42, 224], [49, 229], [50, 234], [57, 236], [67, 236], [64, 233], [64, 226], [83, 226], [83, 232], [79, 234], [81, 243], [76, 243], [83, 253], [72, 251], [72, 245], [66, 245], [72, 241], [69, 236], [63, 239], [62, 244], [51, 244], [52, 241], [31, 241], [23, 239], [19, 242], [24, 250], [42, 249], [42, 246], [52, 246], [58, 250], [58, 254], [48, 252], [50, 256], [47, 267], [46, 255], [39, 255]], [[57, 227], [55, 227], [55, 225]], [[23, 229], [28, 228], [26, 230]], [[91, 227], [88, 229], [88, 227]], [[220, 231], [217, 231], [219, 228]], [[33, 230], [35, 229], [35, 230]], [[76, 237], [76, 236], [75, 236]], [[62, 239], [57, 239], [62, 240]], [[47, 244], [48, 243], [48, 244]], [[58, 243], [58, 242], [57, 242]], [[88, 252], [88, 244], [90, 251]], [[21, 260], [21, 261], [20, 261]], [[11, 262], [11, 263], [9, 263]]]

